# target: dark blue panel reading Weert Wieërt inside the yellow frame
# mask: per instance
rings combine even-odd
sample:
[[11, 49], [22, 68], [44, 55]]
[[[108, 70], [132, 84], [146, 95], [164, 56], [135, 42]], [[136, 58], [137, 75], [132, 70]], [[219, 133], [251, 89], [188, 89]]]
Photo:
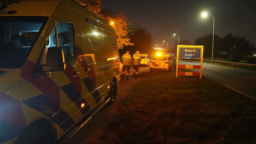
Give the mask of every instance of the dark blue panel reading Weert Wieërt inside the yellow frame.
[[179, 47], [179, 58], [200, 59], [201, 47]]

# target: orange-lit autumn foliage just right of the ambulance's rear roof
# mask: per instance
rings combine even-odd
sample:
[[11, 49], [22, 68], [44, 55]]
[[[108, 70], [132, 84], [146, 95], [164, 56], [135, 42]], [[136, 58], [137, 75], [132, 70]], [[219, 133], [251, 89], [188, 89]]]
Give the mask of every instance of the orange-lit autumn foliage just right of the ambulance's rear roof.
[[128, 38], [128, 29], [129, 23], [126, 20], [126, 16], [124, 16], [124, 11], [115, 14], [110, 8], [106, 8], [101, 11], [101, 17], [106, 21], [112, 21], [114, 24], [112, 25], [115, 29], [117, 36], [117, 46], [119, 49], [123, 49], [124, 46], [133, 45], [130, 42], [131, 38]]

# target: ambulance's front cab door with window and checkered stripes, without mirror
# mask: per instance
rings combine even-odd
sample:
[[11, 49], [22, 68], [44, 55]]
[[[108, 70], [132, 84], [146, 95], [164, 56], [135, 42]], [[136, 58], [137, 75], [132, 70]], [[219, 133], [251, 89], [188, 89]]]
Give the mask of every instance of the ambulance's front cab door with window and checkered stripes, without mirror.
[[81, 64], [76, 55], [75, 25], [72, 20], [56, 18], [52, 25], [44, 51], [50, 47], [61, 48], [65, 68], [43, 76], [44, 94], [46, 105], [52, 111], [51, 119], [65, 132], [83, 117], [81, 106], [84, 100], [79, 77]]

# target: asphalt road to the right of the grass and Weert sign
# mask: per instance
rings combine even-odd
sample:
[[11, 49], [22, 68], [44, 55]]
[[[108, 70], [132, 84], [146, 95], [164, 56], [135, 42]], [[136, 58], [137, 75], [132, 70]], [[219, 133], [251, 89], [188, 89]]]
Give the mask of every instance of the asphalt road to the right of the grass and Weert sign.
[[[179, 59], [179, 64], [200, 65], [200, 62]], [[189, 70], [199, 71], [197, 69]], [[246, 96], [256, 98], [256, 71], [203, 63], [202, 76], [215, 80]]]

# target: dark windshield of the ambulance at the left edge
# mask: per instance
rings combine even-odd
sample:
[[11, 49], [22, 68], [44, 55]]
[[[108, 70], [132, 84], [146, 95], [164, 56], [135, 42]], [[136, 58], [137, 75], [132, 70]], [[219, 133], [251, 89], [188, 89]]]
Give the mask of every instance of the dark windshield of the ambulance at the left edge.
[[0, 19], [0, 68], [21, 68], [48, 17], [1, 16]]

